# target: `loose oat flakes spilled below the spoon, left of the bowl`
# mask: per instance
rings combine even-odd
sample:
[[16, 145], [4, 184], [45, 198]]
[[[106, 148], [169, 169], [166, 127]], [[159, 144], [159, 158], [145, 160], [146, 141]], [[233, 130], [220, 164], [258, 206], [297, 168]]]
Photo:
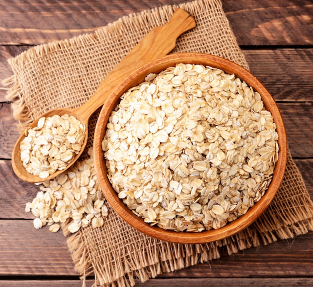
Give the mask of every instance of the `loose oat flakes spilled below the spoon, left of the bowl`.
[[73, 233], [89, 224], [103, 226], [108, 209], [96, 179], [92, 148], [88, 154], [90, 158], [75, 162], [68, 171], [39, 184], [40, 191], [25, 206], [26, 212], [36, 216], [35, 228], [48, 225], [51, 232], [56, 232], [66, 222]]

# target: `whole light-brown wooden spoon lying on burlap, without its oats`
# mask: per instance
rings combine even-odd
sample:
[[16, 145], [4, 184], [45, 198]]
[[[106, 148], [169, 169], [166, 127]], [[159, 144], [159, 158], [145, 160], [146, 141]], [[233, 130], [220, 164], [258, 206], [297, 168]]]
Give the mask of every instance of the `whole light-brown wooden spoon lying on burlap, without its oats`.
[[[195, 27], [193, 17], [185, 10], [177, 8], [170, 20], [163, 26], [154, 27], [103, 79], [94, 94], [78, 108], [56, 108], [52, 109], [42, 116], [52, 116], [53, 114], [73, 115], [80, 122], [85, 124], [85, 138], [80, 152], [74, 156], [73, 160], [63, 170], [57, 170], [46, 178], [40, 178], [26, 171], [20, 159], [20, 142], [25, 137], [22, 134], [15, 143], [12, 151], [12, 167], [15, 174], [27, 182], [42, 182], [51, 179], [56, 175], [64, 172], [70, 167], [82, 153], [88, 138], [88, 119], [90, 115], [108, 98], [112, 90], [132, 71], [143, 64], [164, 56], [174, 47], [176, 38], [183, 32]], [[39, 117], [39, 118], [40, 118]], [[38, 119], [34, 120], [29, 128], [37, 125]]]

